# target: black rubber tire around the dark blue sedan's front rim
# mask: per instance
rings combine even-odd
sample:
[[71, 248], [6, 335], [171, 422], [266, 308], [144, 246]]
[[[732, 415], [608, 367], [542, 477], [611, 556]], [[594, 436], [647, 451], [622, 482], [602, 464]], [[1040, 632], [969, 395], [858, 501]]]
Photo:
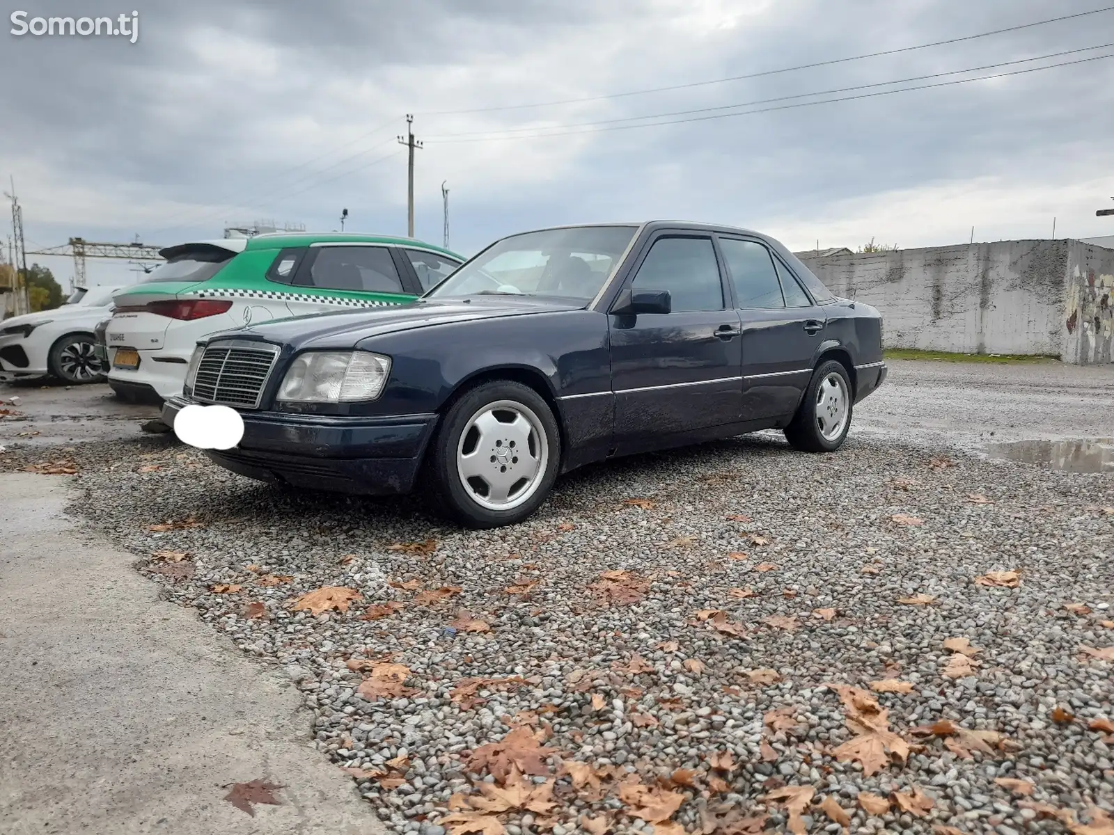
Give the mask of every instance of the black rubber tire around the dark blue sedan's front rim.
[[[537, 434], [545, 435], [545, 464], [537, 471], [539, 475], [531, 479], [529, 487], [522, 490], [525, 492], [530, 489], [531, 492], [521, 503], [507, 510], [478, 503], [472, 498], [476, 490], [465, 483], [457, 465], [461, 436], [466, 430], [470, 430], [473, 416], [485, 406], [500, 401], [525, 406], [537, 419]], [[536, 439], [536, 442], [540, 443], [541, 439]], [[465, 443], [467, 445], [468, 440]], [[560, 430], [549, 404], [527, 385], [510, 380], [496, 380], [465, 392], [449, 407], [426, 452], [426, 482], [439, 510], [468, 528], [517, 524], [530, 517], [549, 495], [560, 469]], [[541, 456], [540, 451], [536, 454]], [[518, 464], [518, 459], [514, 460]], [[492, 468], [498, 465], [499, 462], [492, 458]], [[506, 472], [506, 468], [504, 471]]]

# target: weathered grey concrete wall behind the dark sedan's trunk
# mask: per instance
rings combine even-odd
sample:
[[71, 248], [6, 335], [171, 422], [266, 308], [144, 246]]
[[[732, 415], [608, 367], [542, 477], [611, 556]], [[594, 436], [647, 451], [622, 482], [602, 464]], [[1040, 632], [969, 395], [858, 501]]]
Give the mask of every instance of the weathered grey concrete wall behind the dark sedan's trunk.
[[[1110, 285], [1101, 277], [1114, 272], [1114, 250], [1066, 239], [1001, 240], [798, 257], [837, 295], [881, 311], [887, 347], [1114, 362], [1111, 302], [1102, 306]], [[1077, 320], [1089, 317], [1088, 328], [1069, 327], [1068, 307]]]

